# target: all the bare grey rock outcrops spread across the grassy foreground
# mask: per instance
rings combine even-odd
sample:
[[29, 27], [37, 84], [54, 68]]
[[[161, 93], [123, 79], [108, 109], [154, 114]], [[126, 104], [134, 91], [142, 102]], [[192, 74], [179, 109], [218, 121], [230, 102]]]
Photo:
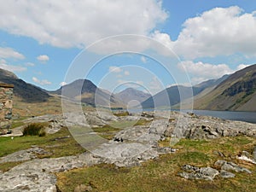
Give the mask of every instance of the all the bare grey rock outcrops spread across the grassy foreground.
[[[0, 163], [25, 162], [15, 166], [9, 172], [0, 173], [0, 191], [57, 191], [54, 174], [56, 172], [66, 172], [74, 168], [101, 163], [115, 166], [139, 166], [142, 162], [158, 158], [161, 154], [175, 153], [176, 149], [173, 145], [183, 137], [189, 139], [214, 139], [241, 135], [256, 137], [256, 125], [253, 124], [177, 112], [134, 113], [127, 116], [115, 116], [108, 112], [84, 113], [84, 116], [68, 113], [64, 116], [45, 115], [26, 119], [25, 123], [49, 122], [49, 127], [46, 129], [49, 134], [59, 131], [64, 126], [68, 126], [71, 132], [73, 132], [72, 129], [79, 127], [85, 130], [84, 137], [88, 137], [96, 135], [88, 127], [101, 127], [118, 121], [133, 122], [139, 119], [148, 123], [125, 128], [112, 140], [96, 143], [94, 148], [89, 148], [90, 151], [78, 156], [38, 159], [37, 154], [44, 154], [45, 151], [43, 148], [32, 146], [32, 148], [2, 157]], [[170, 139], [170, 147], [161, 148], [158, 143], [167, 138]], [[244, 153], [239, 158], [255, 163], [256, 149], [254, 154]], [[212, 180], [216, 175], [224, 178], [235, 177], [229, 172], [230, 170], [251, 173], [233, 162], [218, 160], [215, 164], [219, 167], [218, 170], [212, 167], [184, 165], [183, 172], [179, 175], [187, 179]]]

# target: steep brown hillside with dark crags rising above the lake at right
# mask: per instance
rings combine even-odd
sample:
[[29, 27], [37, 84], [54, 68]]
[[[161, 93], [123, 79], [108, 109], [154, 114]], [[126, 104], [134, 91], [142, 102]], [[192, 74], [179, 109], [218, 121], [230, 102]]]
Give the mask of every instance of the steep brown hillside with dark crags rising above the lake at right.
[[195, 109], [256, 111], [256, 65], [225, 79], [206, 96], [195, 100]]

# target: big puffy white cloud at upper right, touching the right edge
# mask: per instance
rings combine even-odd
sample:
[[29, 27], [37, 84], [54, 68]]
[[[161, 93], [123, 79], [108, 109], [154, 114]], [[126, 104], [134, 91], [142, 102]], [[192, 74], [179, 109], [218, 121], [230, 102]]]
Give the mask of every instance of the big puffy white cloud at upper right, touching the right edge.
[[256, 15], [237, 6], [215, 8], [186, 20], [174, 44], [187, 59], [242, 53], [256, 55]]

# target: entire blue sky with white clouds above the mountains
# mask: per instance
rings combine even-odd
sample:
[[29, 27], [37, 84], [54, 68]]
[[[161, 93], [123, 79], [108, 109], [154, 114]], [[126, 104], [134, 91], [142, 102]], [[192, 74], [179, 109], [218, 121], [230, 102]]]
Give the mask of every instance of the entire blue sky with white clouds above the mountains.
[[251, 0], [0, 3], [0, 68], [46, 90], [90, 79], [154, 94], [256, 63]]

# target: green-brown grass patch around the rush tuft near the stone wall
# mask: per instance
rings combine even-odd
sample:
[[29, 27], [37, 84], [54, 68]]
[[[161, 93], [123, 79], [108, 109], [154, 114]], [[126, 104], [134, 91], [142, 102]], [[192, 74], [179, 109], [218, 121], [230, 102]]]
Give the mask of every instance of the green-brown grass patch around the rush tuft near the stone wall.
[[[44, 148], [47, 154], [39, 155], [39, 158], [55, 158], [62, 156], [69, 156], [81, 154], [85, 152], [79, 143], [77, 143], [67, 128], [62, 128], [61, 131], [53, 135], [46, 135], [45, 137], [26, 136], [26, 137], [0, 137], [0, 157], [7, 154], [12, 154], [16, 151], [31, 148], [32, 145], [37, 145]], [[0, 164], [0, 170], [6, 171], [10, 167], [15, 166], [15, 163]]]

